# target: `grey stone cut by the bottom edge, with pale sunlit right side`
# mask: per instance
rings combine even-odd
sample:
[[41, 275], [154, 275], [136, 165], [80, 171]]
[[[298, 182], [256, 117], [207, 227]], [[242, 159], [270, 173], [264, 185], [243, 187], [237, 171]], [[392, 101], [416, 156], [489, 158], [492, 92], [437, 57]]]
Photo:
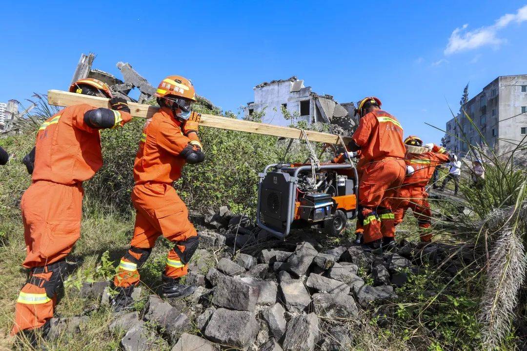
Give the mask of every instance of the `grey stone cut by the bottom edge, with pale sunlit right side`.
[[285, 351], [314, 351], [320, 329], [319, 319], [314, 313], [297, 315], [287, 325], [284, 338]]

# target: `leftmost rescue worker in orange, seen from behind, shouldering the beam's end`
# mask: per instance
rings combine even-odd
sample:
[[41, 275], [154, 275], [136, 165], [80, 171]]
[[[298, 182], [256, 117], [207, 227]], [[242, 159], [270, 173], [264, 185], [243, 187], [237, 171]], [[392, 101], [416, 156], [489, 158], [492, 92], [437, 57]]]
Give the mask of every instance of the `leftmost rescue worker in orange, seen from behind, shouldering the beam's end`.
[[108, 97], [112, 109], [66, 107], [37, 132], [32, 184], [20, 204], [26, 242], [22, 265], [30, 274], [16, 302], [13, 335], [24, 331], [34, 336], [37, 328], [49, 325], [65, 258], [81, 234], [82, 182], [102, 166], [100, 130], [132, 119], [126, 101], [112, 97], [108, 85], [97, 79], [81, 79], [70, 92]]

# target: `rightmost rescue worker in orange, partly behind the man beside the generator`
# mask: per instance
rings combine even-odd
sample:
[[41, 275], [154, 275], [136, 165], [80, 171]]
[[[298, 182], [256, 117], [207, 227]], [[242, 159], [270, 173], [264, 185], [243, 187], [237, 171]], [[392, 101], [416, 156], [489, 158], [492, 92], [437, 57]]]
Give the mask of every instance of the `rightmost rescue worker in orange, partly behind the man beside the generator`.
[[[423, 146], [423, 141], [417, 136], [409, 136], [404, 140], [406, 145]], [[428, 144], [427, 144], [428, 145]], [[437, 145], [430, 145], [431, 151], [423, 154], [406, 153], [406, 165], [412, 167], [413, 172], [404, 178], [403, 185], [397, 190], [392, 201], [395, 225], [403, 222], [408, 208], [412, 209], [421, 231], [421, 241], [432, 241], [430, 204], [425, 187], [434, 174], [435, 167], [450, 160], [446, 149]]]

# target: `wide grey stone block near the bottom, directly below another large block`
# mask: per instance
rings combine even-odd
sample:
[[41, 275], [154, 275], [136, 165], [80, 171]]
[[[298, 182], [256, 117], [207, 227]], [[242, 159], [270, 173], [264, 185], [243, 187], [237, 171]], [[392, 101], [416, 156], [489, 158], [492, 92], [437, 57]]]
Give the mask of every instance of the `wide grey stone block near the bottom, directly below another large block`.
[[255, 342], [258, 330], [258, 321], [252, 313], [218, 308], [204, 335], [215, 343], [247, 350]]

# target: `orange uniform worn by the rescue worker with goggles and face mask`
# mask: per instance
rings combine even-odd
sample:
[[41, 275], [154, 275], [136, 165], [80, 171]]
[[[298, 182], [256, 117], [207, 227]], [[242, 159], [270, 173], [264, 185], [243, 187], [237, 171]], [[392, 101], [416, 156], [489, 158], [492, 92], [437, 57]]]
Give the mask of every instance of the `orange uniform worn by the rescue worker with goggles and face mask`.
[[134, 163], [135, 228], [130, 250], [122, 257], [114, 278], [115, 286], [138, 284], [138, 268], [147, 260], [160, 235], [177, 247], [168, 253], [165, 275], [179, 278], [187, 274], [188, 264], [177, 250], [184, 253], [189, 242], [197, 245], [198, 234], [188, 219], [187, 206], [172, 183], [180, 178], [186, 164], [180, 153], [188, 144], [201, 148], [197, 134], [183, 135], [181, 122], [167, 107], [162, 107], [145, 123]]

